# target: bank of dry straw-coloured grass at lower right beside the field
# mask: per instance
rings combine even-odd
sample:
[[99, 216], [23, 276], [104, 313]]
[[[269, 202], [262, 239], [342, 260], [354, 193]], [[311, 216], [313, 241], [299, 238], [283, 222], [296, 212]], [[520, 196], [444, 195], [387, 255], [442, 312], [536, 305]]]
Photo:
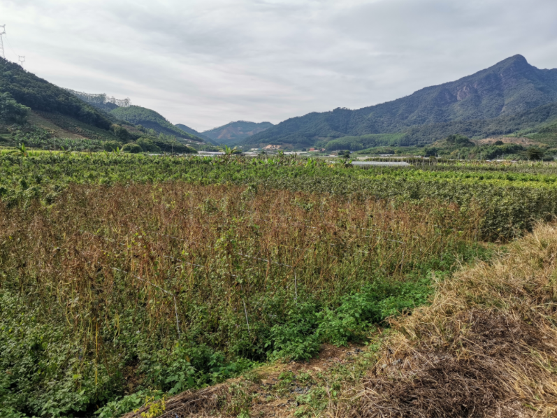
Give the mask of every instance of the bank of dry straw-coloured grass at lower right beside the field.
[[433, 305], [393, 322], [343, 417], [557, 416], [557, 226], [439, 283]]

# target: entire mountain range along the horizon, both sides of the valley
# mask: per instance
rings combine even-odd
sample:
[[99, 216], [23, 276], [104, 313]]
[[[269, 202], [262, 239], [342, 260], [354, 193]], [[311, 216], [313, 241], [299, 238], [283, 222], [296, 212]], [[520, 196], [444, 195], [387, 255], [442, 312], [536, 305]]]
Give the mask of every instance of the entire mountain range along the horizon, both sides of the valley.
[[[118, 106], [99, 101], [106, 95], [62, 89], [1, 58], [0, 94], [6, 103], [29, 107], [29, 123], [52, 137], [87, 138], [96, 140], [97, 147], [106, 140], [164, 134], [162, 140], [176, 138], [195, 146], [273, 144], [362, 150], [379, 145], [427, 145], [451, 134], [479, 139], [542, 132], [537, 138], [557, 145], [557, 69], [537, 69], [521, 55], [375, 106], [309, 113], [276, 125], [240, 120], [202, 133], [185, 124], [174, 125], [151, 109], [129, 103]], [[0, 130], [0, 141], [10, 143], [7, 122]]]

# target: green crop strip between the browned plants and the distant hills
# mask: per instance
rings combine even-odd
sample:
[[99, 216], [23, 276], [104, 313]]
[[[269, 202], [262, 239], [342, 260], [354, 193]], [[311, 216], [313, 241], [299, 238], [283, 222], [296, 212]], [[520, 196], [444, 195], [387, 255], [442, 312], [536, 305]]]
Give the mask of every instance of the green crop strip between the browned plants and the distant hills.
[[[509, 150], [519, 146], [490, 145], [485, 150], [493, 147], [495, 155], [505, 151], [506, 156]], [[128, 155], [106, 159], [99, 154], [90, 157], [40, 154], [22, 161], [14, 155], [5, 155], [0, 156], [0, 188], [4, 190], [0, 199], [9, 204], [23, 203], [32, 196], [45, 199], [45, 196], [57, 194], [69, 182], [107, 179], [111, 179], [110, 182], [182, 179], [203, 184], [230, 182], [261, 185], [264, 189], [286, 188], [345, 196], [359, 194], [379, 199], [434, 198], [463, 206], [479, 203], [485, 210], [482, 233], [493, 239], [515, 236], [531, 228], [536, 219], [549, 219], [557, 214], [557, 175], [551, 165], [429, 165], [429, 161], [417, 161], [414, 168], [377, 167], [354, 171], [342, 166], [327, 168], [317, 164], [319, 161], [304, 159], [234, 157], [227, 164], [215, 164], [217, 162], [219, 159], [210, 157], [168, 160]], [[24, 177], [34, 190], [33, 194], [17, 186], [27, 172], [31, 174]], [[36, 183], [32, 173], [43, 181]]]

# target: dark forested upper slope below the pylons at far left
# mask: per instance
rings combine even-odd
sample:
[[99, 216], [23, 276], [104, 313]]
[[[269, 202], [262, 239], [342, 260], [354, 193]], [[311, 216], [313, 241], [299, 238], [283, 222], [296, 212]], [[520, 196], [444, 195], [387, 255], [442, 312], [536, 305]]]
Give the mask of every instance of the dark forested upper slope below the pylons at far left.
[[93, 106], [3, 58], [0, 58], [0, 93], [9, 93], [17, 103], [32, 110], [73, 117], [101, 129], [110, 128], [109, 118]]

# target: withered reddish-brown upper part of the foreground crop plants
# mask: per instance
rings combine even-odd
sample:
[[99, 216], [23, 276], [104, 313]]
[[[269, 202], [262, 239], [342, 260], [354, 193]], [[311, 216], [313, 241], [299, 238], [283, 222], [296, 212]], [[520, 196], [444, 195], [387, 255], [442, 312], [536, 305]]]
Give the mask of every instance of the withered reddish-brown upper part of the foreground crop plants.
[[142, 329], [173, 334], [176, 316], [189, 324], [184, 307], [196, 298], [225, 298], [240, 323], [244, 310], [256, 322], [261, 309], [250, 301], [277, 289], [328, 297], [375, 271], [401, 275], [473, 242], [478, 218], [433, 203], [395, 208], [229, 186], [73, 186], [50, 210], [0, 205], [0, 261], [13, 286], [34, 289], [45, 306], [53, 295], [63, 301], [76, 332], [90, 328], [88, 310], [107, 315], [99, 329], [112, 327], [110, 308], [133, 299], [147, 301]]

